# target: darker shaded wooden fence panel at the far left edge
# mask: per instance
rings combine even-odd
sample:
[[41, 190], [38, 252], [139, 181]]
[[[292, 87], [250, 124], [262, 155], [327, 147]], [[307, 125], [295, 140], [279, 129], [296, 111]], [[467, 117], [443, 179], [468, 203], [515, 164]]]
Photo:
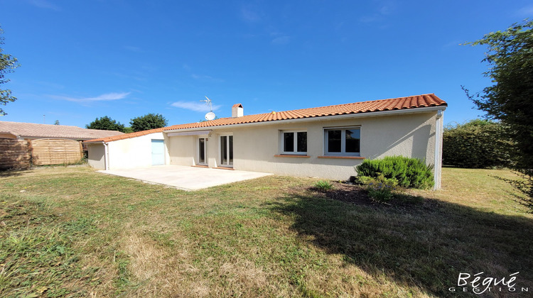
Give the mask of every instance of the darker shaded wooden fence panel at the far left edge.
[[28, 169], [30, 161], [27, 140], [0, 139], [0, 170]]

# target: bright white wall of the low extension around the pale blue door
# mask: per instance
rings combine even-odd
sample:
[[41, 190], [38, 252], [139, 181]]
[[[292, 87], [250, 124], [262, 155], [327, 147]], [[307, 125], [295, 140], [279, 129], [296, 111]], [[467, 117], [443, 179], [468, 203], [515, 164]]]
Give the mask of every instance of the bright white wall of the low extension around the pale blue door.
[[[136, 138], [126, 138], [108, 143], [109, 170], [152, 165], [151, 140], [165, 140], [163, 133], [151, 133]], [[168, 140], [165, 140], [167, 148]], [[165, 164], [168, 165], [168, 150], [165, 149]]]

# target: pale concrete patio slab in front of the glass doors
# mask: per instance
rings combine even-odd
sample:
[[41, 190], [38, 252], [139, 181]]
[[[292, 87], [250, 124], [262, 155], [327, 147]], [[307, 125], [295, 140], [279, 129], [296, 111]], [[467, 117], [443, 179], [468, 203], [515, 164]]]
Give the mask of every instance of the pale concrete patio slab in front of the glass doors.
[[152, 167], [134, 167], [131, 169], [99, 170], [98, 172], [134, 178], [144, 182], [165, 184], [188, 191], [272, 175], [262, 172], [187, 167], [183, 165], [154, 165]]

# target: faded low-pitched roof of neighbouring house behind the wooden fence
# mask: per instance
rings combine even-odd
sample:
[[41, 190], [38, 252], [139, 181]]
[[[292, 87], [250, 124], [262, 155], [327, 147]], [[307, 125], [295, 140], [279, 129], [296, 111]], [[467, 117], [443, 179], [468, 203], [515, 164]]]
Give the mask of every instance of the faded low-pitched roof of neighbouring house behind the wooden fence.
[[124, 135], [120, 131], [101, 131], [77, 126], [0, 121], [0, 132], [20, 138], [70, 138], [90, 140]]

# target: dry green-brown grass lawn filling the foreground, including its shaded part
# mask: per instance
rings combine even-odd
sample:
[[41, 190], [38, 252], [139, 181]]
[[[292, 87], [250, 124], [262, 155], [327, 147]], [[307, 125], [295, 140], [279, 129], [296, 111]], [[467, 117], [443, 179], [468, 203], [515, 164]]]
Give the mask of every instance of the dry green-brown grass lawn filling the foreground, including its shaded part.
[[512, 297], [527, 297], [533, 215], [495, 175], [512, 177], [445, 168], [441, 191], [389, 206], [294, 177], [183, 192], [86, 167], [0, 172], [0, 297], [463, 297], [459, 272], [482, 271], [519, 272], [529, 292]]

